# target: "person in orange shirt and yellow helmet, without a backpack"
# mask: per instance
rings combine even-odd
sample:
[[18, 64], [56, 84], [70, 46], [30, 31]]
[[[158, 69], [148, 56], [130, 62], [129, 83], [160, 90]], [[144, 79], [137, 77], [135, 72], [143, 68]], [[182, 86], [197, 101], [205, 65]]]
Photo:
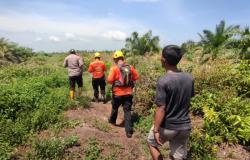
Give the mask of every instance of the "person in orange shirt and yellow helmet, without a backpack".
[[103, 103], [106, 103], [105, 97], [105, 71], [106, 66], [103, 61], [101, 61], [101, 54], [96, 52], [95, 53], [95, 61], [89, 65], [88, 71], [92, 73], [92, 86], [94, 89], [94, 97], [93, 101], [99, 101], [99, 86], [101, 88], [101, 100]]

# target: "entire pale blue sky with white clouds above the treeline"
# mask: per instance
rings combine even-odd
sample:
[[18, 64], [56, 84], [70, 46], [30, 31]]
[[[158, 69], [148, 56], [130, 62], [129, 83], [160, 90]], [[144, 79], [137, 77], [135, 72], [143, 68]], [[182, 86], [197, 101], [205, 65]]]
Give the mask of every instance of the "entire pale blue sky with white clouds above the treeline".
[[0, 37], [36, 51], [121, 49], [133, 31], [162, 46], [199, 40], [203, 29], [250, 24], [249, 0], [0, 0]]

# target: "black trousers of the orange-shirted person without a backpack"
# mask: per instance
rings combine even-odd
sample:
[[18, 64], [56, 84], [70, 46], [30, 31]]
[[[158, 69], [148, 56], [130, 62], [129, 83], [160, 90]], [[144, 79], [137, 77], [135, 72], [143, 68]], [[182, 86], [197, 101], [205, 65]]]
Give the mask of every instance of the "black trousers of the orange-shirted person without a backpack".
[[99, 86], [101, 88], [101, 94], [105, 95], [105, 86], [106, 86], [106, 82], [105, 82], [105, 78], [93, 78], [92, 79], [92, 86], [94, 89], [94, 96], [96, 98], [99, 97]]

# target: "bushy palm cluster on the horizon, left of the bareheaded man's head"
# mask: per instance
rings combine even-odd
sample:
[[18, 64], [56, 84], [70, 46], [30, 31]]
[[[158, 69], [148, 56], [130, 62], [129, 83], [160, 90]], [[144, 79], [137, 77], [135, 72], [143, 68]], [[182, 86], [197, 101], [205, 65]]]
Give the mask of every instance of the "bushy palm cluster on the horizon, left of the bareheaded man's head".
[[142, 37], [137, 32], [133, 32], [131, 37], [126, 39], [125, 50], [132, 55], [159, 52], [159, 41], [159, 37], [153, 36], [152, 31], [148, 31]]

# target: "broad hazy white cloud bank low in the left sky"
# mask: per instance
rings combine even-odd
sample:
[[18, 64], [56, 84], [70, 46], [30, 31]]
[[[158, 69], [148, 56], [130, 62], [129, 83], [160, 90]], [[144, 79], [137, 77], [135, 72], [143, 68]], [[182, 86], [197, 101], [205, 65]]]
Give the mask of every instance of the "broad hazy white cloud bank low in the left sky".
[[16, 11], [0, 14], [0, 31], [8, 33], [5, 37], [35, 50], [120, 49], [126, 35], [148, 29], [136, 20], [117, 16], [53, 18]]

